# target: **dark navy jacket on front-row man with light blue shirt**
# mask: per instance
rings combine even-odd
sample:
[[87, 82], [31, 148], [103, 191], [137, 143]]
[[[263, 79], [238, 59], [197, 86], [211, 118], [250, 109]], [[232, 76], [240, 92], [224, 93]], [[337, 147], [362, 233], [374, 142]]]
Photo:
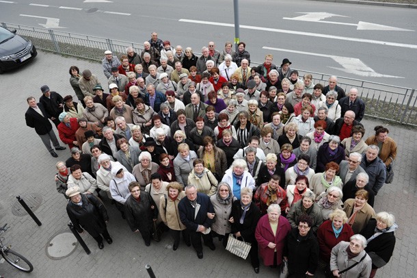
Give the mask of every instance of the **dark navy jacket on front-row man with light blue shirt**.
[[178, 203], [180, 220], [190, 231], [197, 231], [198, 225], [209, 228], [213, 224], [213, 219], [207, 217], [207, 212], [214, 213], [210, 197], [203, 193], [197, 193], [197, 203], [200, 204], [197, 216], [194, 216], [196, 209], [191, 205], [188, 198], [183, 198]]

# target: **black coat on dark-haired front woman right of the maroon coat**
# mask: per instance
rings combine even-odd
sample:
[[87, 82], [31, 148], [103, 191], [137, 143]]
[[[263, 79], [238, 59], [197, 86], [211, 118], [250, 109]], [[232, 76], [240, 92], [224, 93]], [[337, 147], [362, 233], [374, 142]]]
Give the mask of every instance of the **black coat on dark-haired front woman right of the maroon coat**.
[[294, 228], [286, 236], [285, 243], [284, 257], [288, 259], [288, 273], [291, 277], [307, 277], [307, 271], [314, 274], [319, 264], [319, 242], [312, 230], [299, 239], [299, 230]]

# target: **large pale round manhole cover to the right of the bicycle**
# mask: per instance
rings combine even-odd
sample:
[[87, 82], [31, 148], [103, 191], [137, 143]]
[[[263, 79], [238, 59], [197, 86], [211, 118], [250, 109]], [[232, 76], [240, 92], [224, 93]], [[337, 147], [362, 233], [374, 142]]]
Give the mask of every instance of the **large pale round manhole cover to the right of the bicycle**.
[[77, 238], [70, 231], [59, 231], [46, 242], [46, 255], [52, 260], [68, 257], [77, 249]]

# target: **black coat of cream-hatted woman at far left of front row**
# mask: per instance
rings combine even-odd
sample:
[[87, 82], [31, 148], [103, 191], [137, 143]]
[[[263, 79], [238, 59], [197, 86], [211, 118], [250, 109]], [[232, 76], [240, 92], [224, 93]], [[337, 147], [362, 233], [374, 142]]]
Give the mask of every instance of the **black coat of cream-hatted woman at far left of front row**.
[[83, 202], [81, 206], [69, 201], [66, 205], [66, 212], [79, 233], [85, 229], [93, 238], [96, 238], [107, 229], [105, 223], [109, 220], [107, 210], [93, 194], [81, 194], [81, 201]]

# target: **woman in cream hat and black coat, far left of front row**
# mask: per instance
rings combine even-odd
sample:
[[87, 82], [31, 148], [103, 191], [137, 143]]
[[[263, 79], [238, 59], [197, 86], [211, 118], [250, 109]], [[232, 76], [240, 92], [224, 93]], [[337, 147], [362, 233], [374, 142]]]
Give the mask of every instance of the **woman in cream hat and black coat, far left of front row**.
[[66, 205], [68, 217], [78, 233], [83, 233], [85, 229], [96, 240], [98, 248], [103, 249], [103, 238], [100, 234], [103, 235], [108, 244], [113, 242], [106, 226], [109, 221], [107, 210], [93, 194], [80, 193], [77, 186], [66, 190], [66, 196], [70, 199]]

